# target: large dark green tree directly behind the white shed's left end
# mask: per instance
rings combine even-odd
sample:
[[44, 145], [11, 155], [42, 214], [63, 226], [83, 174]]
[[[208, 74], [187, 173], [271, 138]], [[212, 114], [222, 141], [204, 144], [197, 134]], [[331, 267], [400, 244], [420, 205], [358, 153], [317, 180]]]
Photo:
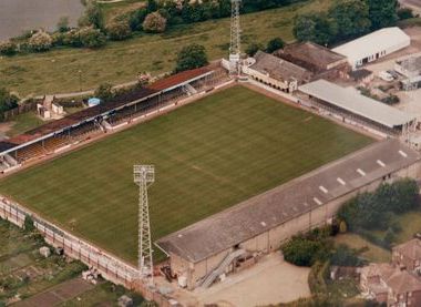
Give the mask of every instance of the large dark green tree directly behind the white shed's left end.
[[330, 10], [329, 17], [335, 19], [338, 39], [351, 39], [370, 30], [369, 7], [361, 0], [338, 1]]

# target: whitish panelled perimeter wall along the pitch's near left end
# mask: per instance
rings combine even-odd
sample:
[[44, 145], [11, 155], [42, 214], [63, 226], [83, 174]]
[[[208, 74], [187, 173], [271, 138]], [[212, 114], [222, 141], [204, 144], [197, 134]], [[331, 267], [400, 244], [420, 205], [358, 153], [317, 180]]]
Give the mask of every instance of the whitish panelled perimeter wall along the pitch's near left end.
[[0, 195], [0, 217], [23, 227], [25, 216], [33, 219], [35, 228], [43, 235], [45, 242], [54, 247], [62, 247], [64, 254], [96, 268], [102, 277], [129, 289], [137, 290], [148, 300], [160, 306], [172, 306], [168, 298], [148, 288], [137, 278], [137, 268], [100, 249], [93, 244], [78, 238], [57, 225], [43, 219], [25, 207]]

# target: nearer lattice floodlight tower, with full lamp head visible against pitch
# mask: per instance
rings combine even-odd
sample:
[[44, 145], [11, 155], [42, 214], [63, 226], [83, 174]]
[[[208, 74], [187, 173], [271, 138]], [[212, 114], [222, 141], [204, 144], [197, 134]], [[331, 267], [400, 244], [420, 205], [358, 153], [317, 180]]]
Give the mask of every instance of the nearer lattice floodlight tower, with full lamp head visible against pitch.
[[154, 266], [152, 260], [152, 238], [147, 187], [155, 182], [155, 167], [153, 165], [134, 165], [133, 175], [134, 183], [138, 185], [138, 273], [140, 278], [148, 279], [148, 284], [152, 286]]

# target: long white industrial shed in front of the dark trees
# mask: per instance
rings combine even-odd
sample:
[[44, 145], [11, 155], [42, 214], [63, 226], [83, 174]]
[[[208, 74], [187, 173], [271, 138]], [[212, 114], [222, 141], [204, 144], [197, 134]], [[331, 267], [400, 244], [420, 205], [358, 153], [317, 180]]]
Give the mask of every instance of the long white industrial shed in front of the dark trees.
[[352, 69], [358, 69], [411, 44], [411, 38], [398, 27], [384, 28], [332, 49], [347, 57]]

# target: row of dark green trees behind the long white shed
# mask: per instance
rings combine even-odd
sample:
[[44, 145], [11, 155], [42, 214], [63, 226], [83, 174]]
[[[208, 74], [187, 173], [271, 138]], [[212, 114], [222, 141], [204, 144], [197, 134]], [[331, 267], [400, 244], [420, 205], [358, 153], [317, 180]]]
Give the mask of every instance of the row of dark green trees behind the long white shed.
[[[306, 13], [294, 21], [294, 34], [299, 41], [331, 44], [350, 40], [370, 31], [396, 25], [402, 13], [398, 0], [342, 0], [328, 12]], [[409, 16], [408, 16], [409, 13]]]

